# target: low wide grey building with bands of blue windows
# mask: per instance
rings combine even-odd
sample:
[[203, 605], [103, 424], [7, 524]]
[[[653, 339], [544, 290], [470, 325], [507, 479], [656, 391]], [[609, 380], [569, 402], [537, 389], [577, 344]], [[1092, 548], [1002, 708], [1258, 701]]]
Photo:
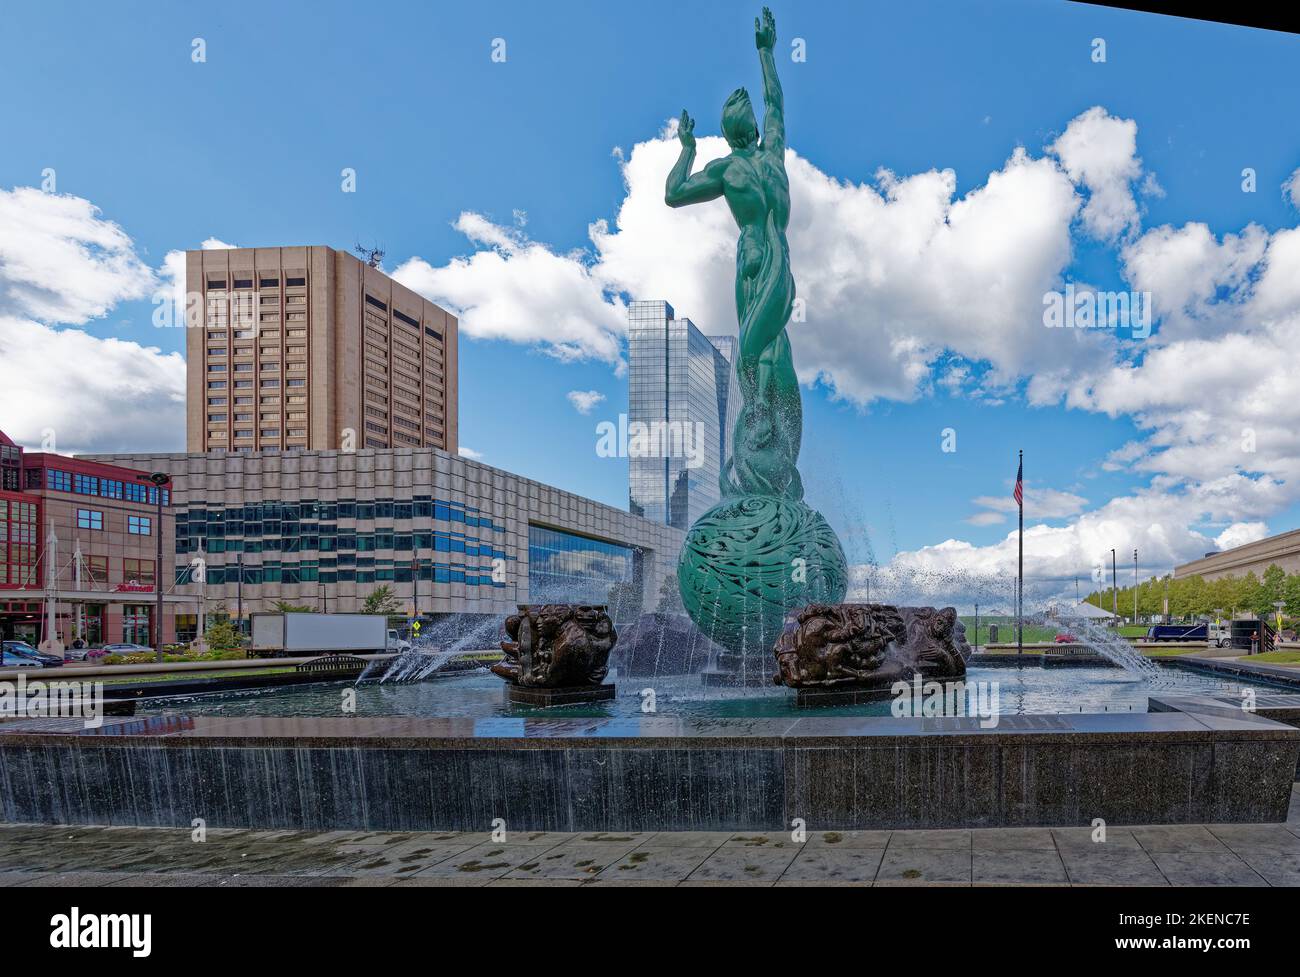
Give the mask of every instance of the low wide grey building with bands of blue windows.
[[281, 600], [359, 611], [387, 585], [407, 613], [582, 602], [623, 622], [653, 608], [682, 540], [437, 448], [113, 457], [172, 476], [174, 592], [244, 616]]

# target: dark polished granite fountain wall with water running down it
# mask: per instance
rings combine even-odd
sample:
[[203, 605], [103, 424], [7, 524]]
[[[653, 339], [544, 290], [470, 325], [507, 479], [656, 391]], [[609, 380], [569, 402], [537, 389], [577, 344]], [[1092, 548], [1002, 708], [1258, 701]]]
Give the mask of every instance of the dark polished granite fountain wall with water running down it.
[[[1222, 703], [1219, 703], [1222, 705]], [[975, 718], [0, 724], [0, 817], [372, 830], [1284, 821], [1300, 730], [1240, 711]]]

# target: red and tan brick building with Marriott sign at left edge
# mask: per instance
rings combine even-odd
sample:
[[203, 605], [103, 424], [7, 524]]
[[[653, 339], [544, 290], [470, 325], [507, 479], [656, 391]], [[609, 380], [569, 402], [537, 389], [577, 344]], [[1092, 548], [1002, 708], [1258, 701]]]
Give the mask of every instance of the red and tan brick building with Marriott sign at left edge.
[[[153, 643], [156, 587], [164, 590], [162, 639], [194, 637], [194, 596], [173, 595], [165, 573], [176, 553], [170, 492], [148, 473], [23, 451], [0, 431], [0, 635], [44, 641], [47, 600], [65, 646]], [[156, 566], [156, 534], [162, 566]]]

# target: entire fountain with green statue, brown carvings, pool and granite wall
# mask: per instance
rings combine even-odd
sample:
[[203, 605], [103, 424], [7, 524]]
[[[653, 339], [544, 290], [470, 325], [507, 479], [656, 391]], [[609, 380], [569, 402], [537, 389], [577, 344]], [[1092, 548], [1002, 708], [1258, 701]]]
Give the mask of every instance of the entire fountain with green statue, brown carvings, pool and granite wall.
[[[844, 548], [803, 501], [771, 13], [755, 27], [762, 134], [749, 95], [736, 91], [723, 109], [731, 155], [692, 174], [694, 123], [682, 113], [666, 188], [672, 207], [724, 197], [738, 225], [742, 407], [722, 500], [690, 527], [677, 564], [693, 629], [664, 608], [644, 630], [636, 625], [634, 646], [615, 659], [627, 674], [653, 678], [619, 696], [606, 681], [618, 642], [607, 607], [563, 603], [590, 595], [533, 591], [538, 603], [504, 620], [504, 659], [491, 666], [504, 702], [498, 678], [477, 669], [420, 681], [484, 648], [489, 629], [502, 626], [484, 617], [446, 625], [387, 664], [386, 681], [360, 687], [321, 682], [188, 702], [155, 694], [136, 717], [96, 730], [5, 721], [0, 820], [838, 831], [1286, 817], [1300, 731], [1269, 718], [1266, 703], [1264, 712], [1240, 708], [1243, 690], [1217, 678], [1191, 674], [1197, 695], [1144, 712], [1149, 682], [978, 664], [972, 685], [996, 692], [1005, 674], [1019, 686], [998, 700], [1010, 708], [901, 718], [872, 702], [909, 681], [965, 681], [971, 648], [950, 607], [844, 603]], [[1127, 674], [1157, 670], [1110, 631], [1069, 626]], [[706, 659], [703, 685], [736, 687], [702, 687], [698, 672], [664, 674]], [[521, 715], [520, 705], [550, 711]], [[551, 708], [559, 705], [568, 708]], [[801, 705], [840, 708], [807, 717]]]

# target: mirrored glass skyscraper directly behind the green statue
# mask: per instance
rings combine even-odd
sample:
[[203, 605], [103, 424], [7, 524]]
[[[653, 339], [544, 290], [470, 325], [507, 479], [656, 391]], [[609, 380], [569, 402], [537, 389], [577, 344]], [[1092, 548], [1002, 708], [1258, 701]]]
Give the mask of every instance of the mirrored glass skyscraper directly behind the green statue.
[[740, 411], [734, 336], [706, 336], [667, 301], [628, 307], [628, 508], [686, 530], [720, 499]]

